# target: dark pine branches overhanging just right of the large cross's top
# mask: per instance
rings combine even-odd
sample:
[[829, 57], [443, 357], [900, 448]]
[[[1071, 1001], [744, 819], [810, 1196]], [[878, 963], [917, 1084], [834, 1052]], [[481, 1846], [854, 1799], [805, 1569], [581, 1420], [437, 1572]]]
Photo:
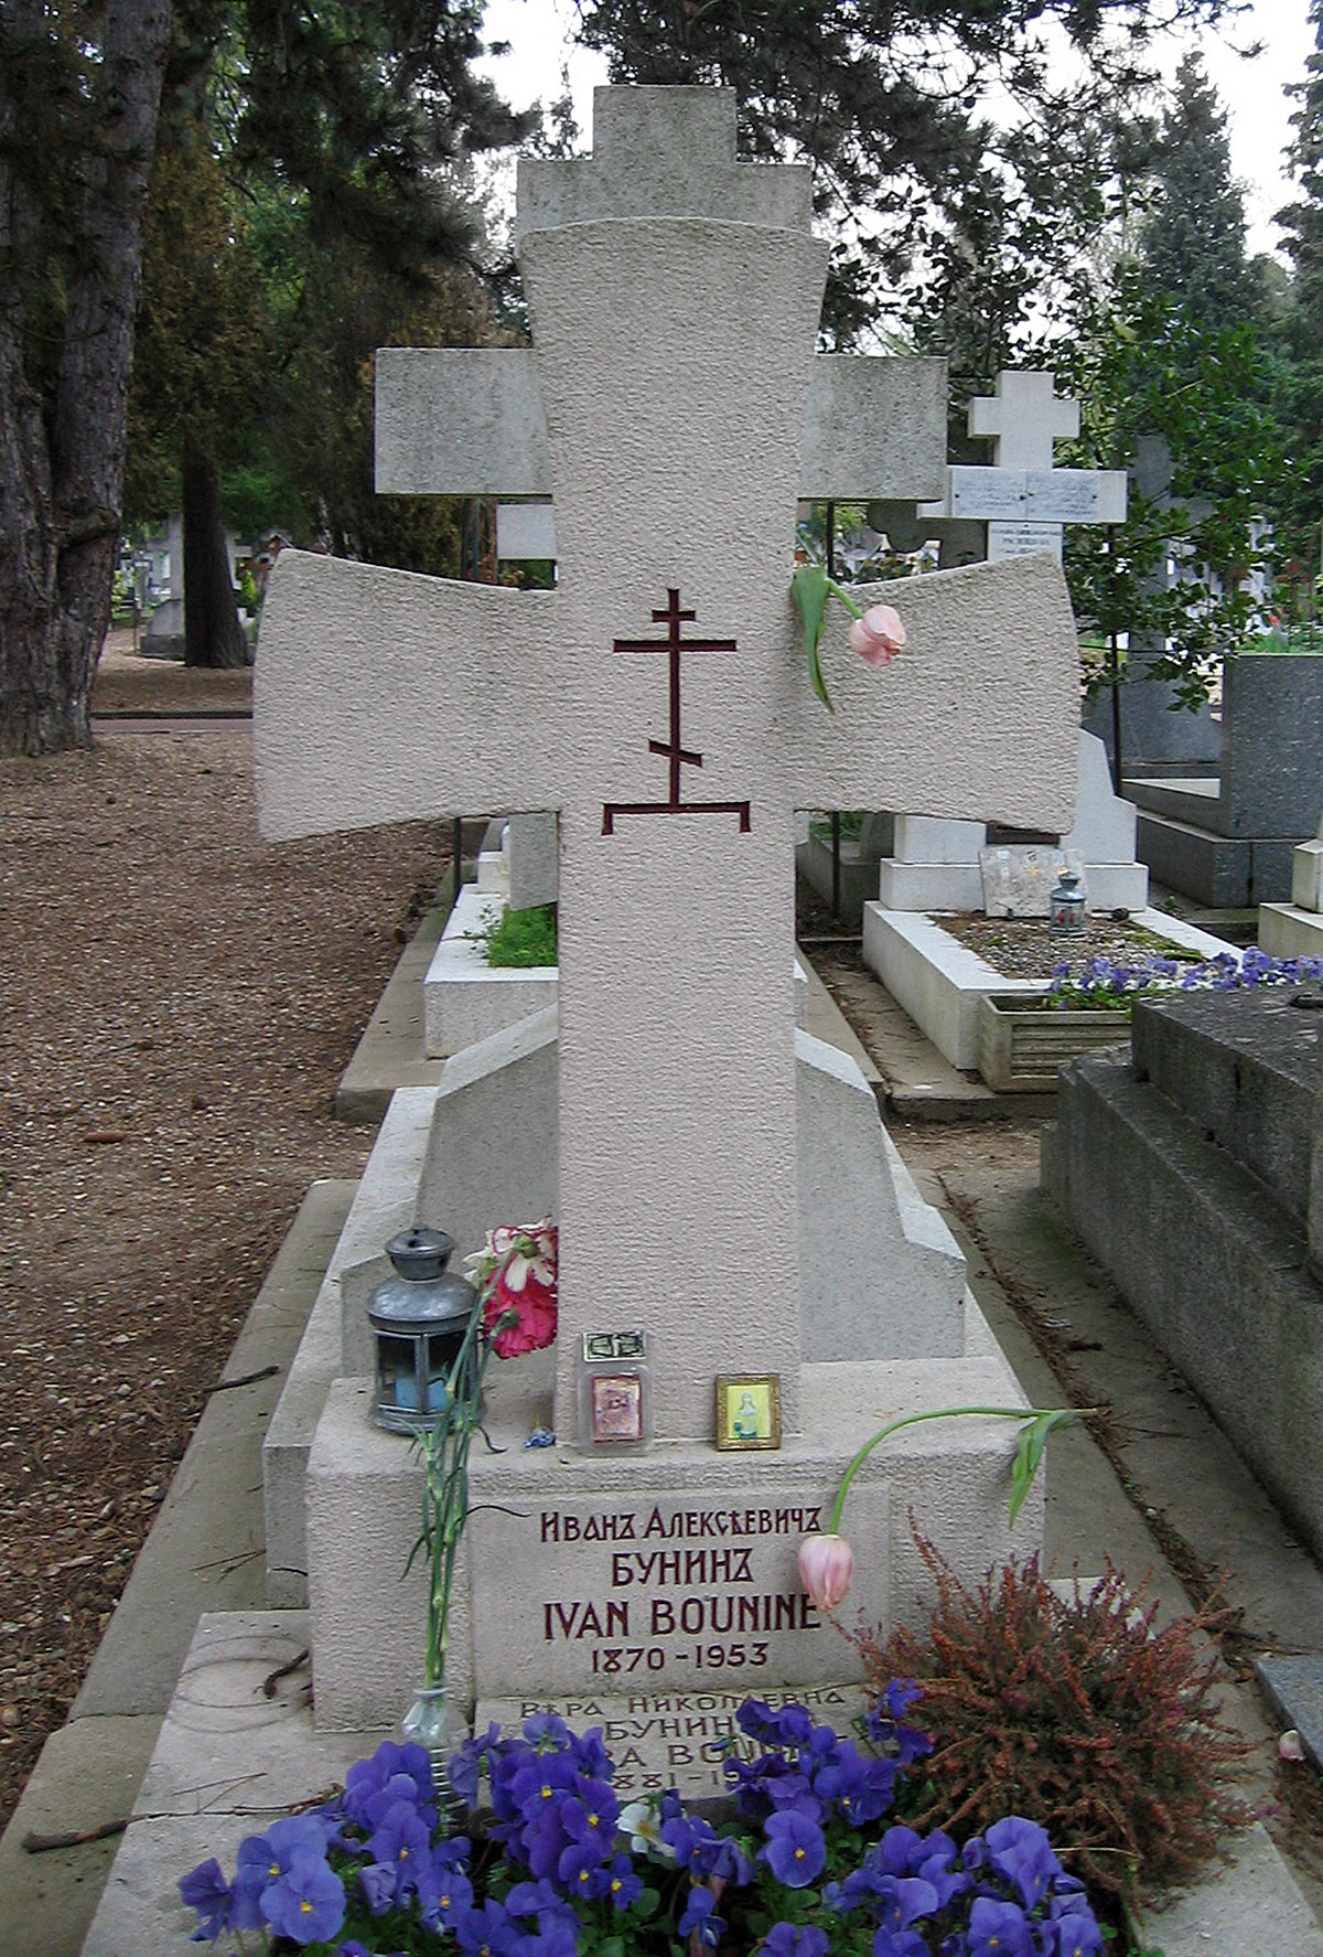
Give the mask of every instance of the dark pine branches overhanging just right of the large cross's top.
[[[1096, 200], [1090, 129], [1149, 84], [1159, 27], [1215, 22], [1223, 0], [575, 0], [577, 35], [605, 51], [613, 80], [724, 82], [740, 100], [746, 155], [814, 164], [814, 207], [836, 237], [826, 337], [849, 346], [877, 323], [900, 325], [937, 239], [963, 252], [992, 192], [1045, 227], [1024, 241], [1047, 254], [1067, 198]], [[1063, 29], [1080, 72], [1055, 82], [1047, 33]], [[990, 151], [988, 96], [1014, 110], [1022, 157]], [[988, 159], [994, 176], [988, 178]], [[982, 200], [975, 196], [981, 184]], [[1006, 231], [1010, 237], [1010, 229]], [[957, 280], [949, 280], [957, 284]]]

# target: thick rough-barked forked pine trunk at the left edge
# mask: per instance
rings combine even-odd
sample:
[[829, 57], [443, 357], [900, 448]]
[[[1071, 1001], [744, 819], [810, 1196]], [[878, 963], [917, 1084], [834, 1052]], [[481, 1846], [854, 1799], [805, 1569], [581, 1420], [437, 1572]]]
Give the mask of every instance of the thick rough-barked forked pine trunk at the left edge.
[[[119, 497], [168, 0], [106, 0], [96, 141], [82, 157], [76, 252], [53, 397], [27, 366], [31, 288], [0, 276], [0, 753], [86, 748], [88, 699], [119, 544]], [[49, 29], [37, 0], [8, 10], [0, 59], [0, 264], [41, 254], [29, 170], [39, 98], [23, 94]]]

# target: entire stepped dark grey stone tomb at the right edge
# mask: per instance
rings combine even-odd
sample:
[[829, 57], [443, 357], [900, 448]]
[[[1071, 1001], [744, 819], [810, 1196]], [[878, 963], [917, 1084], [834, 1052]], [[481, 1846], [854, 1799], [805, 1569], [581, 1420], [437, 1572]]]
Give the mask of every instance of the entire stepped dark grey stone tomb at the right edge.
[[1065, 1069], [1043, 1186], [1321, 1554], [1317, 992], [1139, 1000], [1133, 1053]]

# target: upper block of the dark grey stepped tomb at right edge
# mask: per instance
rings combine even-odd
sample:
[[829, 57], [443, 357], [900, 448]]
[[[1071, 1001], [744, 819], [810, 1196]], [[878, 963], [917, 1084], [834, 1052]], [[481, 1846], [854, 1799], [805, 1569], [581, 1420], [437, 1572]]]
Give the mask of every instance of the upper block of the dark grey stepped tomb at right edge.
[[1319, 1088], [1319, 1014], [1294, 986], [1190, 992], [1135, 1006], [1135, 1078], [1151, 1080], [1200, 1135], [1266, 1182], [1300, 1225]]

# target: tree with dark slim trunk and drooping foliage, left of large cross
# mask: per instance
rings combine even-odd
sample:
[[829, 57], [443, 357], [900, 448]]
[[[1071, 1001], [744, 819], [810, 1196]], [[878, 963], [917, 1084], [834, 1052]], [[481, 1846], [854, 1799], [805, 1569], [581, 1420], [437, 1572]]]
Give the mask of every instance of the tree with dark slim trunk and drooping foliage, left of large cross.
[[[317, 411], [325, 429], [339, 423], [342, 440], [372, 346], [393, 339], [405, 313], [427, 313], [436, 335], [436, 315], [454, 311], [438, 294], [444, 284], [454, 299], [456, 280], [438, 268], [472, 266], [481, 233], [460, 194], [460, 166], [530, 121], [472, 74], [479, 25], [478, 0], [178, 8], [135, 432], [157, 454], [172, 442], [178, 458], [188, 663], [249, 656], [225, 550], [229, 472], [239, 474], [249, 517], [266, 476], [301, 540], [344, 548], [362, 528], [329, 513], [333, 495], [297, 491], [292, 472], [319, 460], [331, 464], [327, 487], [342, 485], [341, 450], [307, 442]], [[188, 249], [174, 221], [180, 184], [205, 194], [184, 233]], [[472, 323], [479, 309], [474, 292], [456, 317]], [[307, 389], [303, 409], [296, 384]], [[313, 501], [329, 521], [309, 528]], [[417, 558], [423, 538], [444, 536], [454, 521], [395, 509], [372, 528], [378, 538], [407, 532], [405, 552]], [[427, 568], [448, 568], [444, 552]]]

